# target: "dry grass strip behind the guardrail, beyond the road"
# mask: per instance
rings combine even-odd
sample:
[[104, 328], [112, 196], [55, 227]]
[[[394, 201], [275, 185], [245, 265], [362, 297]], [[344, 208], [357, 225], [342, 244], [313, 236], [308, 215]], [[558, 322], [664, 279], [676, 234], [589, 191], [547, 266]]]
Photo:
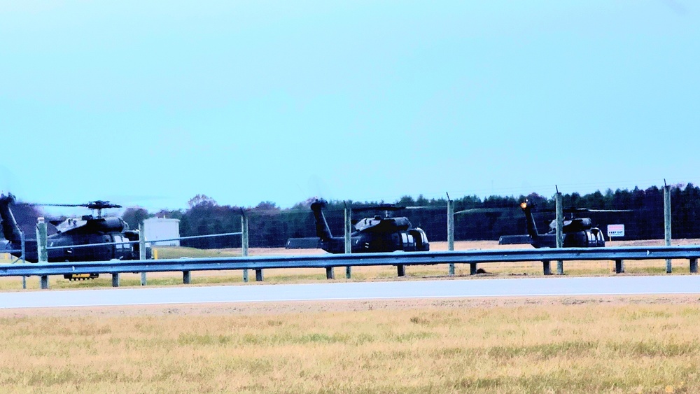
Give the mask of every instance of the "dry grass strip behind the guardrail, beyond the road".
[[[697, 239], [682, 239], [674, 241], [674, 244], [699, 244]], [[663, 241], [613, 241], [608, 243], [611, 246], [632, 246], [632, 245], [662, 245]], [[446, 242], [431, 243], [431, 250], [440, 251], [447, 250]], [[497, 241], [458, 241], [455, 249], [458, 251], [470, 249], [508, 249], [508, 248], [526, 248], [527, 245], [498, 245]], [[226, 257], [241, 255], [240, 249], [221, 249], [221, 250], [200, 250], [195, 248], [175, 248], [175, 247], [160, 247], [157, 248], [158, 258], [199, 258], [199, 257]], [[321, 250], [314, 249], [297, 249], [288, 250], [284, 248], [251, 248], [250, 255], [308, 255], [325, 253]], [[3, 260], [3, 258], [5, 260]], [[0, 255], [0, 263], [11, 262], [8, 256]], [[541, 262], [521, 262], [521, 263], [489, 263], [479, 265], [480, 268], [486, 269], [493, 276], [541, 276]], [[556, 262], [551, 263], [552, 272], [556, 272]], [[470, 267], [468, 264], [455, 265], [455, 274], [458, 277], [466, 278], [469, 276]], [[590, 261], [573, 261], [564, 263], [564, 272], [570, 276], [584, 275], [610, 275], [614, 274], [614, 265], [610, 261], [590, 262]], [[447, 278], [447, 265], [428, 265], [428, 266], [409, 266], [406, 267], [406, 277], [404, 279], [397, 278], [395, 267], [353, 267], [352, 281], [376, 281], [376, 280], [407, 280], [421, 278]], [[674, 274], [689, 274], [689, 262], [687, 260], [673, 261]], [[625, 274], [666, 274], [666, 260], [645, 260], [645, 261], [626, 261]], [[194, 285], [211, 285], [211, 284], [241, 284], [242, 272], [192, 272], [192, 281]], [[255, 274], [250, 272], [250, 280], [254, 281]], [[345, 270], [342, 267], [335, 269], [335, 281], [346, 281]], [[314, 281], [326, 281], [324, 269], [267, 269], [264, 272], [264, 280], [266, 283], [304, 283]], [[171, 286], [182, 283], [181, 272], [159, 272], [148, 274], [148, 286]], [[121, 274], [120, 286], [140, 286], [141, 276], [139, 274]], [[67, 281], [60, 276], [50, 277], [50, 288], [94, 288], [94, 287], [110, 287], [112, 285], [111, 276], [102, 275], [101, 278], [90, 281]], [[38, 289], [39, 280], [36, 277], [27, 279], [27, 288]], [[22, 281], [18, 278], [1, 278], [0, 290], [21, 290]]]

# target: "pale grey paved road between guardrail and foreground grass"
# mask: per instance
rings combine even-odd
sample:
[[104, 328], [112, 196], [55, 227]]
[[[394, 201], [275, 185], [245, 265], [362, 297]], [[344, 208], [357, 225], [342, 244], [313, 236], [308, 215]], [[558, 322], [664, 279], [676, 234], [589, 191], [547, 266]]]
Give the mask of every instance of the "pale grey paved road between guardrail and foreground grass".
[[468, 279], [297, 285], [113, 288], [0, 293], [0, 308], [97, 307], [200, 302], [274, 302], [542, 295], [700, 293], [700, 276]]

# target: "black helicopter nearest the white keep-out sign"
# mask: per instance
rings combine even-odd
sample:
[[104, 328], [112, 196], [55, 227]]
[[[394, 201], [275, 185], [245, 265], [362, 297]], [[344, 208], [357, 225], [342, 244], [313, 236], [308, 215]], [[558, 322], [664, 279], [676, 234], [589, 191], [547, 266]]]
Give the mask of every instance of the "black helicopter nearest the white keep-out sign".
[[[535, 218], [532, 214], [533, 205], [527, 201], [520, 204], [525, 213], [527, 233], [531, 244], [535, 248], [556, 248], [556, 220], [549, 223], [549, 231], [545, 234], [537, 232]], [[590, 218], [574, 218], [573, 214], [582, 212], [629, 212], [627, 209], [564, 209], [564, 213], [571, 213], [570, 219], [563, 220], [561, 232], [563, 234], [564, 248], [601, 248], [605, 246], [605, 237], [598, 227], [593, 225]]]

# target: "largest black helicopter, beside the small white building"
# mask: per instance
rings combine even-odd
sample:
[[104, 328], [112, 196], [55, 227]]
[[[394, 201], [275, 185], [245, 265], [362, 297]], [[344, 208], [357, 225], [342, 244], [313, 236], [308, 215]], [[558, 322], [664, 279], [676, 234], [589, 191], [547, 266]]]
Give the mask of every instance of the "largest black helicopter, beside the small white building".
[[[20, 250], [22, 234], [15, 221], [10, 205], [15, 202], [12, 194], [0, 195], [0, 218], [2, 219], [3, 236], [8, 241], [7, 248]], [[139, 244], [129, 244], [129, 241], [139, 241], [139, 230], [129, 230], [129, 225], [121, 218], [103, 217], [102, 209], [121, 208], [120, 205], [109, 201], [94, 201], [87, 204], [42, 204], [49, 206], [85, 206], [97, 211], [97, 216], [85, 215], [81, 218], [68, 218], [56, 226], [56, 233], [47, 237], [48, 246], [79, 246], [87, 244], [103, 244], [90, 247], [56, 248], [48, 250], [48, 262], [73, 261], [104, 261], [104, 260], [138, 260]], [[104, 245], [106, 244], [106, 245]], [[150, 248], [146, 249], [146, 255]], [[12, 252], [20, 258], [20, 252]], [[25, 260], [38, 261], [36, 237], [25, 239]], [[96, 278], [97, 274], [66, 274], [66, 279]]]

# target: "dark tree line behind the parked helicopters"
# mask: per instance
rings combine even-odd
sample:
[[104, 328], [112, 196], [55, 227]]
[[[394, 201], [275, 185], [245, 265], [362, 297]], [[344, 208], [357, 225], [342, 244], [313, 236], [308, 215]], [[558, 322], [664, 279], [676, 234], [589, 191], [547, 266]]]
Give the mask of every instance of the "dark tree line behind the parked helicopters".
[[[664, 191], [652, 186], [645, 190], [606, 190], [586, 195], [577, 192], [564, 194], [563, 206], [629, 210], [617, 212], [581, 213], [605, 231], [605, 225], [624, 224], [624, 239], [663, 239], [664, 238]], [[455, 216], [456, 240], [497, 240], [501, 235], [525, 234], [526, 223], [519, 209], [520, 202], [528, 199], [536, 205], [535, 220], [540, 233], [549, 230], [554, 219], [554, 195], [544, 197], [535, 193], [518, 197], [490, 196], [484, 199], [468, 195], [453, 200], [454, 211], [465, 211]], [[138, 227], [144, 218], [158, 216], [180, 220], [181, 237], [193, 235], [221, 234], [241, 231], [241, 215], [248, 216], [249, 241], [251, 247], [281, 247], [292, 237], [316, 237], [314, 216], [309, 206], [314, 199], [281, 209], [274, 202], [260, 202], [257, 206], [241, 207], [219, 205], [211, 197], [197, 195], [188, 202], [188, 209], [148, 213], [145, 209], [127, 209], [123, 219], [132, 227]], [[384, 202], [350, 202], [352, 208], [376, 206]], [[325, 216], [332, 234], [342, 236], [344, 207], [347, 202], [330, 201]], [[447, 240], [447, 199], [416, 199], [405, 196], [395, 202], [398, 206], [420, 207], [405, 209], [394, 216], [406, 216], [412, 225], [423, 228], [430, 241]], [[470, 211], [472, 209], [487, 209]], [[700, 188], [692, 185], [671, 187], [671, 212], [673, 238], [700, 238]], [[353, 219], [360, 219], [384, 212], [353, 213]], [[568, 215], [567, 215], [568, 216]], [[196, 248], [240, 247], [241, 237], [221, 237], [184, 240], [183, 246]]]

